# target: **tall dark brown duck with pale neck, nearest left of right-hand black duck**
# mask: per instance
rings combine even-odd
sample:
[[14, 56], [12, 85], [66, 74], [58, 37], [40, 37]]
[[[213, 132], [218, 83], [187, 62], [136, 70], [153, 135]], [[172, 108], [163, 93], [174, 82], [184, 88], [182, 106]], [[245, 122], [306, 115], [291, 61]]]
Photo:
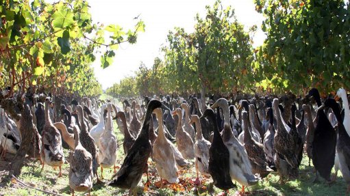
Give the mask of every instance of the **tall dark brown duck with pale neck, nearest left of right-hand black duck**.
[[273, 113], [275, 113], [277, 122], [274, 137], [274, 147], [276, 151], [274, 162], [280, 176], [279, 181], [284, 183], [286, 178], [292, 180], [299, 176], [297, 170], [298, 158], [295, 154], [294, 139], [292, 139], [288, 133], [288, 127], [286, 127], [282, 118], [277, 98], [273, 99]]

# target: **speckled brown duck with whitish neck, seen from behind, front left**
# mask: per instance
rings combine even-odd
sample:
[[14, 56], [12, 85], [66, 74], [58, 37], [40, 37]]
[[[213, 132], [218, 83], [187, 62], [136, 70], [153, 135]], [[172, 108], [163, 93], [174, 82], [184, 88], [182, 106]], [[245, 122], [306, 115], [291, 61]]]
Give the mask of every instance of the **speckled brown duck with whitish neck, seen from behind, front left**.
[[69, 161], [69, 186], [71, 187], [72, 195], [75, 191], [86, 192], [90, 196], [94, 173], [92, 172], [92, 155], [88, 152], [79, 141], [79, 128], [73, 127], [75, 146], [73, 154]]

